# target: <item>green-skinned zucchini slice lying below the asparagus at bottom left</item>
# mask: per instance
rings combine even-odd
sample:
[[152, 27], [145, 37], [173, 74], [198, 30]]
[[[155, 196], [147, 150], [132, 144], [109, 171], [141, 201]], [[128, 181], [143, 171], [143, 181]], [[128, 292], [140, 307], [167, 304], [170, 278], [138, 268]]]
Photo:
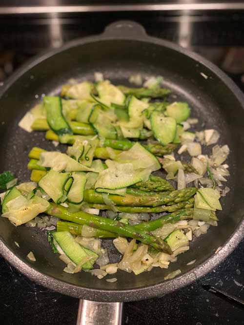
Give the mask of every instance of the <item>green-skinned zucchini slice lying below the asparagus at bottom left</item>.
[[[75, 242], [74, 237], [68, 231], [56, 231], [52, 233], [54, 239], [59, 244], [65, 255], [71, 259], [77, 266], [83, 269], [90, 269], [95, 263], [98, 255], [89, 249], [84, 249], [80, 244]], [[87, 258], [91, 260], [82, 263]]]

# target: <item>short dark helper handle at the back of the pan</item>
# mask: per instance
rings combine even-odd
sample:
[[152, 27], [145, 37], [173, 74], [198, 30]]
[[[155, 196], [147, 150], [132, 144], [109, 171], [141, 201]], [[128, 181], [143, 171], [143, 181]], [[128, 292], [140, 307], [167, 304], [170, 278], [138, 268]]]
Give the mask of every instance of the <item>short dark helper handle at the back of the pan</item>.
[[105, 28], [103, 35], [112, 37], [148, 37], [144, 27], [131, 20], [112, 22]]

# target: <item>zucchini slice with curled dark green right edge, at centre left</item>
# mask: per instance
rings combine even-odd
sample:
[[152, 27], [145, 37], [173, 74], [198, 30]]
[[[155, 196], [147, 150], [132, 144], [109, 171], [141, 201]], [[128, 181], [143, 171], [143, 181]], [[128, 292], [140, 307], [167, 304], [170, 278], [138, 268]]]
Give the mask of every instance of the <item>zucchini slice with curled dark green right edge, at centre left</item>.
[[41, 178], [39, 186], [55, 203], [59, 204], [66, 200], [73, 180], [69, 172], [56, 172], [50, 170]]

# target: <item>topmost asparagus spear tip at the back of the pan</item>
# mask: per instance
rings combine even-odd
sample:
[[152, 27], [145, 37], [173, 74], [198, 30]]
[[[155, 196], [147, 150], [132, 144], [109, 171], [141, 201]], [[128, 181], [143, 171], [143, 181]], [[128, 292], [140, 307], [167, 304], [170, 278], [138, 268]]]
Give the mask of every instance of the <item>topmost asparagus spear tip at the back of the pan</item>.
[[171, 93], [169, 89], [166, 88], [129, 88], [125, 86], [118, 86], [118, 88], [126, 95], [133, 95], [137, 98], [151, 97], [151, 98], [161, 98]]

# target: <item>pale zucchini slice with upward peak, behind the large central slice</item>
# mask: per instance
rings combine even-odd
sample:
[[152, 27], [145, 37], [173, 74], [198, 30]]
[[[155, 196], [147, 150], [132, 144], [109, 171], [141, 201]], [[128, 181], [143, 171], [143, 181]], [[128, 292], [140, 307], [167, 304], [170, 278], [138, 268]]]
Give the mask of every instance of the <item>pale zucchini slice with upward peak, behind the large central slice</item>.
[[161, 164], [154, 154], [147, 151], [139, 142], [116, 156], [119, 163], [132, 163], [135, 169], [149, 168], [151, 171], [161, 169]]

